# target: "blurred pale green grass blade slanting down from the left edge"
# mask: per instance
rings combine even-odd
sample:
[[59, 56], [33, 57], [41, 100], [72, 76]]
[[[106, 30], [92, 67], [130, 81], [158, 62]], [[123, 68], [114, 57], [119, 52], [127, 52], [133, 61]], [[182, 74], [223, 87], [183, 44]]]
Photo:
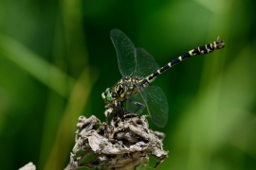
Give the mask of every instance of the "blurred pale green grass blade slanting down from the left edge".
[[[70, 91], [66, 87], [72, 89], [74, 86], [75, 80], [72, 77], [67, 76], [55, 65], [29, 50], [21, 42], [3, 34], [0, 34], [0, 56], [9, 59], [26, 71], [27, 74], [35, 77], [48, 88], [64, 97]], [[50, 81], [54, 83], [50, 83]], [[64, 86], [66, 83], [68, 83], [68, 86]]]

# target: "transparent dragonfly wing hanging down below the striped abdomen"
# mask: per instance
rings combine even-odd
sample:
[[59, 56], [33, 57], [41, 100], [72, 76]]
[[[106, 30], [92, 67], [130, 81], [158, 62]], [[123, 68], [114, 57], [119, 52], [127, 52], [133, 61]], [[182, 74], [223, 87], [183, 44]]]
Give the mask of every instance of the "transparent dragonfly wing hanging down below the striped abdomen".
[[[144, 89], [147, 101], [145, 107], [157, 127], [164, 127], [168, 119], [168, 103], [163, 91], [154, 85]], [[143, 97], [144, 93], [140, 93]]]

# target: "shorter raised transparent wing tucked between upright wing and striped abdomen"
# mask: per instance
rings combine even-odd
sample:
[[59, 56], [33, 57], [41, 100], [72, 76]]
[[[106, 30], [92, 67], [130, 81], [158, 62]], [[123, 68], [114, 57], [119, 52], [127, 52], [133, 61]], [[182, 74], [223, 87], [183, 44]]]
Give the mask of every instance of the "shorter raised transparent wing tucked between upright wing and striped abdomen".
[[150, 76], [159, 68], [155, 59], [143, 48], [136, 48], [135, 56], [136, 68], [134, 76]]

